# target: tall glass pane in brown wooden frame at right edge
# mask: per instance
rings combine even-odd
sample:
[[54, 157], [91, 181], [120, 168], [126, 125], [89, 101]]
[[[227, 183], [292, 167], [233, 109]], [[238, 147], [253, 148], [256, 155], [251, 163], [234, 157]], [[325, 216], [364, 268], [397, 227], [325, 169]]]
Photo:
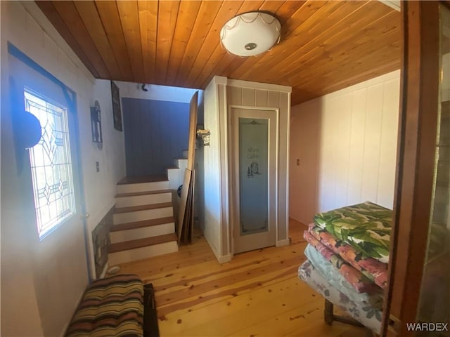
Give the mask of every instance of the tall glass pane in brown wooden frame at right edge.
[[416, 336], [450, 336], [450, 11], [444, 6], [439, 10], [439, 25], [441, 78], [435, 181], [417, 317], [418, 322], [431, 325]]

